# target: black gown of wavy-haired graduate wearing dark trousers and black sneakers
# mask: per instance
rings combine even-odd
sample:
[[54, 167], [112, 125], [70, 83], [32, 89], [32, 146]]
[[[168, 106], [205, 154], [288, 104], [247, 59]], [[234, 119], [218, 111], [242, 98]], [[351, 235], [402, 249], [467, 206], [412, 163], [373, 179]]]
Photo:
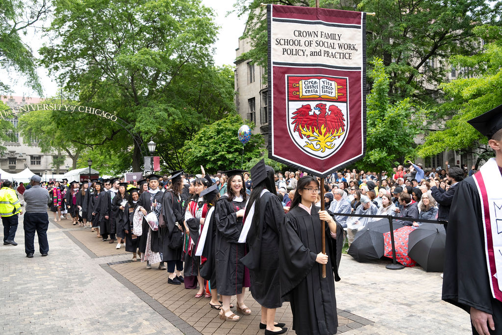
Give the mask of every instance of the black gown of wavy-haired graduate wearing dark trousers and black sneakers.
[[[171, 191], [164, 192], [162, 198], [162, 215], [166, 228], [159, 228], [162, 240], [162, 257], [164, 261], [180, 261], [183, 250], [182, 236], [184, 231], [183, 220], [185, 212], [181, 207], [180, 199]], [[178, 224], [182, 230], [178, 229]]]

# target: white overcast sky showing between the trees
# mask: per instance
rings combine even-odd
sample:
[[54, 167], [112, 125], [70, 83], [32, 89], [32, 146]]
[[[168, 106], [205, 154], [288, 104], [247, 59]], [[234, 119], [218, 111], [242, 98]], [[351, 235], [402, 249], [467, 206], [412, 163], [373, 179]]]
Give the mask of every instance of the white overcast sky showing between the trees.
[[[230, 14], [226, 16], [227, 12], [233, 10], [232, 0], [202, 0], [202, 4], [214, 9], [216, 15], [215, 22], [220, 26], [218, 40], [214, 44], [215, 54], [214, 62], [216, 65], [233, 65], [235, 59], [235, 49], [238, 47], [238, 38], [244, 31], [245, 21], [243, 18], [237, 18], [237, 15]], [[46, 22], [44, 25], [49, 25]], [[38, 49], [44, 43], [40, 29], [29, 29], [28, 34], [23, 37], [38, 57]], [[54, 96], [57, 92], [57, 84], [49, 78], [47, 70], [41, 67], [38, 69], [44, 96]], [[13, 88], [13, 92], [9, 95], [17, 96], [38, 96], [31, 88], [24, 85], [24, 80], [18, 74], [9, 75], [7, 71], [0, 70], [2, 81], [7, 82]], [[54, 79], [54, 78], [52, 78]]]

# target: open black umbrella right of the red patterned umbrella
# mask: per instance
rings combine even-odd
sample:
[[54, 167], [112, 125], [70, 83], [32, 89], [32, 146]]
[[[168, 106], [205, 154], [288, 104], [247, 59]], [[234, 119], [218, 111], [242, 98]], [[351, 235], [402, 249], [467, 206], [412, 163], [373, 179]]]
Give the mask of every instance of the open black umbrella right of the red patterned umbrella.
[[425, 271], [443, 271], [446, 231], [443, 225], [422, 224], [410, 233], [408, 255]]

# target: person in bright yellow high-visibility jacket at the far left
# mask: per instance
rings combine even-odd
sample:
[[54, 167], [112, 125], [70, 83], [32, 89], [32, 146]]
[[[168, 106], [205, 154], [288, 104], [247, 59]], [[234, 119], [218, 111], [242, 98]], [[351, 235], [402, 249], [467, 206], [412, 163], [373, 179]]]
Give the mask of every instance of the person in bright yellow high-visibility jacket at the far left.
[[4, 181], [4, 185], [0, 189], [0, 215], [4, 224], [4, 246], [18, 245], [14, 242], [14, 238], [18, 230], [18, 214], [23, 214], [21, 201], [11, 186], [12, 182], [7, 180]]

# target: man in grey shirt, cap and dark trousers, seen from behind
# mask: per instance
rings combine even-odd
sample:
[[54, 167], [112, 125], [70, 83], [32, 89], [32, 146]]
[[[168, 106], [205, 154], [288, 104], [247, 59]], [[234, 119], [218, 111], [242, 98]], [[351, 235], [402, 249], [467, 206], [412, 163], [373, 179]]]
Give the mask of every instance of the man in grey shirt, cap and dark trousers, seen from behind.
[[23, 221], [25, 230], [25, 252], [26, 257], [33, 258], [35, 253], [35, 232], [38, 235], [40, 254], [47, 256], [49, 253], [49, 242], [47, 241], [47, 229], [49, 228], [49, 215], [47, 214], [47, 203], [50, 200], [49, 191], [40, 186], [42, 178], [34, 174], [30, 178], [30, 189], [24, 193], [26, 202], [26, 213]]

